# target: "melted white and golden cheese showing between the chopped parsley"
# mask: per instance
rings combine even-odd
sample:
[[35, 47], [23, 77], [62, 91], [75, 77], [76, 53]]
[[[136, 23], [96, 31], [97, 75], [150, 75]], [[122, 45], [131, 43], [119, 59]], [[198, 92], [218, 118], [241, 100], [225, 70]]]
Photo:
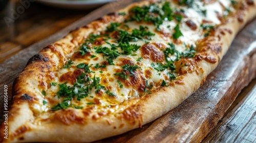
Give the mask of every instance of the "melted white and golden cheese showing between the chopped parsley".
[[[180, 53], [184, 52], [185, 50], [188, 49], [188, 46], [193, 45], [194, 47], [196, 47], [196, 41], [198, 41], [199, 39], [204, 38], [204, 31], [203, 29], [200, 27], [200, 25], [202, 25], [202, 21], [203, 20], [208, 20], [210, 21], [210, 25], [216, 26], [219, 25], [221, 23], [220, 19], [218, 18], [217, 12], [221, 15], [223, 15], [224, 13], [224, 7], [229, 7], [230, 6], [230, 2], [229, 1], [216, 1], [214, 4], [211, 5], [204, 5], [201, 1], [197, 1], [196, 4], [198, 5], [199, 8], [195, 8], [195, 7], [187, 7], [187, 6], [178, 6], [178, 5], [172, 5], [173, 9], [182, 9], [184, 10], [184, 14], [186, 15], [186, 17], [183, 17], [181, 22], [180, 22], [180, 31], [182, 32], [183, 36], [180, 36], [178, 38], [179, 41], [181, 41], [181, 43], [176, 43], [176, 50], [179, 51]], [[204, 16], [200, 11], [198, 11], [199, 9], [202, 10], [206, 10], [206, 15]], [[197, 29], [196, 30], [191, 30], [191, 28], [186, 24], [187, 20], [191, 20], [191, 22], [193, 22]], [[148, 42], [150, 42], [150, 44], [154, 44], [154, 43], [161, 43], [164, 47], [164, 49], [166, 47], [168, 47], [168, 43], [175, 43], [175, 40], [172, 37], [172, 34], [175, 32], [174, 28], [177, 26], [178, 22], [176, 20], [172, 20], [172, 21], [163, 21], [162, 25], [159, 26], [159, 28], [162, 30], [163, 33], [167, 33], [167, 35], [169, 34], [169, 37], [164, 36], [161, 32], [156, 31], [156, 26], [153, 25], [152, 23], [146, 23], [146, 22], [135, 22], [135, 21], [130, 21], [130, 22], [125, 22], [125, 25], [127, 25], [129, 27], [129, 29], [127, 31], [132, 32], [132, 30], [134, 29], [139, 29], [140, 26], [143, 27], [147, 27], [148, 31], [154, 33], [154, 36], [150, 36], [152, 39], [151, 40], [147, 40]], [[116, 42], [113, 42], [113, 39], [109, 39], [108, 42], [112, 43], [112, 44], [116, 44]], [[145, 44], [144, 40], [139, 39], [138, 41], [132, 41], [130, 42], [130, 44], [137, 44], [139, 46], [143, 46]], [[188, 46], [187, 46], [188, 45]], [[94, 46], [98, 46], [98, 45], [94, 45]], [[111, 48], [111, 46], [108, 43], [102, 44], [102, 47], [108, 47]], [[162, 51], [161, 49], [159, 49], [159, 51]], [[95, 88], [93, 88], [90, 91], [90, 94], [88, 97], [81, 99], [80, 101], [77, 101], [76, 99], [73, 99], [71, 101], [72, 104], [74, 104], [75, 106], [83, 106], [84, 108], [86, 107], [91, 107], [94, 105], [88, 105], [88, 103], [94, 103], [97, 104], [97, 106], [102, 107], [99, 108], [101, 111], [104, 112], [115, 112], [117, 111], [122, 111], [125, 109], [124, 106], [118, 106], [121, 103], [124, 103], [125, 101], [129, 100], [129, 99], [133, 99], [133, 98], [139, 98], [140, 96], [143, 96], [144, 93], [141, 93], [141, 91], [136, 90], [135, 86], [132, 85], [128, 85], [121, 82], [121, 84], [123, 85], [123, 88], [120, 88], [119, 84], [118, 84], [118, 76], [115, 76], [114, 74], [116, 73], [117, 70], [122, 71], [123, 68], [119, 65], [121, 64], [122, 59], [128, 59], [131, 63], [137, 64], [139, 65], [140, 69], [137, 69], [137, 71], [140, 71], [140, 73], [142, 74], [138, 74], [137, 76], [141, 76], [138, 77], [138, 82], [145, 82], [147, 81], [148, 84], [153, 84], [154, 88], [157, 88], [157, 86], [160, 86], [163, 80], [166, 80], [167, 73], [170, 72], [168, 69], [165, 69], [163, 71], [157, 71], [156, 69], [154, 69], [152, 67], [152, 59], [141, 59], [140, 62], [137, 61], [138, 58], [143, 56], [143, 53], [141, 52], [141, 50], [137, 50], [136, 52], [133, 52], [132, 55], [120, 55], [118, 56], [115, 60], [114, 60], [114, 64], [115, 65], [107, 65], [103, 70], [102, 68], [92, 68], [93, 66], [95, 66], [97, 63], [99, 63], [99, 65], [102, 65], [103, 62], [106, 61], [106, 56], [103, 56], [103, 54], [98, 54], [96, 53], [95, 49], [91, 49], [90, 52], [96, 56], [96, 58], [87, 58], [87, 60], [84, 60], [83, 58], [74, 58], [71, 59], [74, 63], [72, 64], [71, 68], [60, 68], [58, 71], [56, 71], [56, 81], [58, 82], [61, 78], [62, 75], [68, 73], [68, 72], [74, 72], [77, 68], [76, 65], [80, 64], [80, 63], [87, 63], [89, 64], [90, 70], [94, 71], [95, 73], [90, 73], [90, 77], [93, 78], [95, 77], [100, 77], [100, 84], [105, 86], [106, 89], [101, 89], [102, 90], [102, 94], [101, 96], [99, 96], [98, 94], [95, 93]], [[120, 48], [118, 48], [118, 52], [122, 53], [122, 51], [120, 50]], [[77, 53], [73, 53], [73, 55], [75, 55]], [[72, 57], [72, 55], [70, 56]], [[176, 55], [173, 55], [172, 57], [170, 57], [170, 59], [175, 59]], [[97, 59], [97, 60], [95, 60]], [[163, 64], [166, 64], [166, 61], [162, 62]], [[193, 68], [193, 67], [184, 67], [184, 68]], [[100, 73], [100, 71], [102, 70], [102, 73]], [[151, 73], [151, 75], [146, 75], [145, 73]], [[178, 73], [176, 73], [177, 76]], [[148, 77], [148, 78], [146, 78]], [[76, 77], [73, 77], [76, 78]], [[131, 82], [131, 76], [129, 76], [129, 78], [127, 80], [129, 80]], [[68, 81], [68, 79], [67, 79]], [[172, 81], [168, 81], [168, 83], [170, 83]], [[65, 81], [63, 82], [58, 82], [58, 83], [65, 83]], [[144, 84], [144, 83], [143, 83]], [[72, 83], [67, 83], [68, 86], [73, 86]], [[136, 85], [137, 86], [137, 85]], [[56, 97], [57, 92], [59, 90], [59, 86], [51, 86], [48, 90], [47, 90], [47, 95], [46, 95], [46, 99], [47, 98], [51, 98], [53, 101], [50, 104], [44, 105], [44, 106], [34, 106], [35, 110], [38, 110], [39, 112], [44, 112], [44, 111], [48, 111], [49, 108], [52, 108], [54, 105], [56, 105], [56, 103], [60, 103], [62, 101], [62, 98], [58, 98]], [[112, 93], [115, 93], [116, 96], [115, 97], [110, 97], [108, 94], [105, 93], [106, 90], [110, 90]], [[95, 103], [95, 99], [97, 99], [97, 103]], [[42, 100], [40, 101], [42, 102]], [[55, 104], [53, 104], [55, 103]], [[116, 108], [107, 108], [109, 105], [117, 105]], [[98, 110], [98, 109], [95, 109]]]

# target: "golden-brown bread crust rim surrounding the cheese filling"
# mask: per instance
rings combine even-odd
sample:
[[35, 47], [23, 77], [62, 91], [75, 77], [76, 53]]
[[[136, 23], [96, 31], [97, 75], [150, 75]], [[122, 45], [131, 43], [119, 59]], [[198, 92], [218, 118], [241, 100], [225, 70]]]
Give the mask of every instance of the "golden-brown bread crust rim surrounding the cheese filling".
[[[120, 11], [127, 12], [134, 6], [148, 3], [147, 1], [135, 3]], [[65, 109], [52, 113], [51, 117], [45, 121], [36, 122], [36, 112], [32, 111], [30, 107], [32, 103], [39, 104], [43, 100], [40, 96], [41, 91], [37, 87], [40, 86], [47, 90], [51, 71], [57, 70], [68, 61], [70, 54], [77, 50], [76, 45], [83, 41], [84, 35], [100, 31], [110, 22], [120, 22], [123, 20], [123, 16], [117, 14], [104, 16], [71, 32], [65, 38], [45, 47], [33, 56], [23, 72], [15, 79], [13, 105], [8, 118], [9, 137], [8, 139], [4, 138], [5, 125], [2, 124], [1, 140], [3, 142], [58, 142], [64, 137], [70, 142], [91, 142], [118, 135], [152, 122], [177, 107], [204, 83], [207, 75], [216, 68], [226, 54], [239, 30], [255, 16], [256, 1], [254, 0], [253, 3], [250, 5], [248, 2], [244, 10], [237, 11], [236, 14], [229, 17], [224, 25], [216, 29], [214, 36], [200, 41], [199, 44], [205, 45], [200, 50], [208, 59], [194, 58], [189, 61], [196, 62], [200, 68], [197, 71], [183, 74], [182, 83], [161, 87], [153, 90], [152, 94], [130, 100], [129, 102], [132, 104], [129, 103], [129, 107], [125, 110], [116, 114], [103, 115], [97, 120], [79, 118], [80, 112], [77, 109]], [[209, 48], [210, 44], [213, 46], [211, 49]], [[153, 106], [154, 108], [152, 108]], [[60, 120], [65, 121], [60, 122]]]

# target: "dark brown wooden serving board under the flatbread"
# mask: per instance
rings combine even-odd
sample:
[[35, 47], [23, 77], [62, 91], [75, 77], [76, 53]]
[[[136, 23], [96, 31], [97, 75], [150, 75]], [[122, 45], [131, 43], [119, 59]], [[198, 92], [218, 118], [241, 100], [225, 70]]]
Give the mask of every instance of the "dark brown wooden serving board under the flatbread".
[[[0, 87], [2, 90], [4, 85], [8, 85], [9, 101], [14, 78], [25, 67], [28, 59], [42, 47], [62, 38], [69, 31], [131, 2], [119, 1], [105, 5], [55, 35], [7, 59], [0, 65]], [[256, 19], [238, 34], [230, 50], [208, 76], [204, 85], [177, 108], [142, 128], [96, 142], [200, 142], [217, 125], [238, 93], [256, 76], [255, 29]], [[0, 91], [1, 116], [4, 110], [3, 97], [4, 93]]]

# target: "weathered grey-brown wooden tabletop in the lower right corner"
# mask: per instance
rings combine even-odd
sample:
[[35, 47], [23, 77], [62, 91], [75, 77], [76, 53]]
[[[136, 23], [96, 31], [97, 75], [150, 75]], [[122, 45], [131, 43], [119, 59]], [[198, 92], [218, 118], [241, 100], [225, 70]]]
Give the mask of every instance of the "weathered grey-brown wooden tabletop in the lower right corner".
[[204, 142], [256, 142], [256, 79], [243, 89]]

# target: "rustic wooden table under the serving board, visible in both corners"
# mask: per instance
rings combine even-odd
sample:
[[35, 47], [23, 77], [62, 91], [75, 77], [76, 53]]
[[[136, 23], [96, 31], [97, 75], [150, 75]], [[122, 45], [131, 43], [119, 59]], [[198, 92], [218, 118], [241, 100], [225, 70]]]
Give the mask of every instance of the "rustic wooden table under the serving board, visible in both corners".
[[[30, 6], [22, 11], [22, 9], [18, 9], [20, 6], [22, 4], [19, 2], [15, 2], [14, 5], [8, 4], [0, 13], [0, 64], [4, 63], [2, 65], [8, 63], [9, 57], [13, 57], [18, 52], [25, 51], [32, 44], [58, 33], [61, 29], [68, 27], [71, 23], [93, 10], [67, 10], [30, 3]], [[16, 12], [16, 15], [13, 15], [15, 13], [13, 11]], [[9, 17], [9, 19], [6, 17]], [[256, 45], [252, 44], [252, 46], [254, 46], [252, 48], [254, 49], [253, 53], [255, 56]], [[256, 62], [252, 61], [252, 64], [255, 65]], [[1, 69], [3, 71], [4, 67], [1, 67]], [[5, 71], [2, 72], [1, 76], [5, 76], [3, 73]], [[254, 70], [252, 69], [252, 73], [255, 75], [255, 68]], [[4, 78], [2, 77], [2, 79]], [[1, 81], [1, 85], [3, 83], [7, 82]], [[238, 94], [236, 100], [227, 109], [218, 124], [215, 124], [215, 127], [204, 135], [202, 142], [256, 142], [255, 83], [256, 79], [252, 80], [239, 94], [236, 93]], [[143, 126], [143, 128], [150, 126], [151, 124], [148, 124]], [[140, 129], [135, 132], [143, 131], [144, 129]], [[119, 136], [116, 139], [119, 141], [122, 138], [133, 140], [132, 137], [127, 137], [129, 134], [131, 133], [128, 133], [126, 137]], [[107, 139], [106, 141], [111, 142], [113, 141], [112, 139]], [[189, 141], [191, 140], [181, 140], [180, 142]], [[122, 140], [122, 142], [126, 141]], [[161, 140], [161, 142], [168, 141]]]

